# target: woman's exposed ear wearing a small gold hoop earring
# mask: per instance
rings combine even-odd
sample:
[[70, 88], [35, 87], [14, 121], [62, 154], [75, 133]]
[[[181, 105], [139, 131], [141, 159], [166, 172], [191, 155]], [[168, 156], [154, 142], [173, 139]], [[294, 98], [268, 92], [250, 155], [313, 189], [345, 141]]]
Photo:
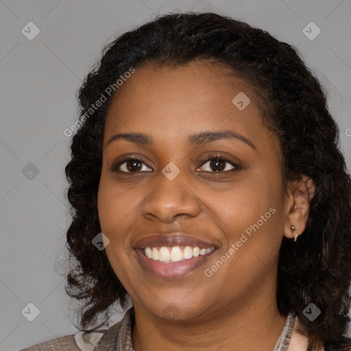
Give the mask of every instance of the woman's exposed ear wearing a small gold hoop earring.
[[311, 178], [302, 175], [301, 180], [290, 182], [286, 199], [286, 213], [284, 235], [292, 239], [294, 237], [291, 226], [295, 227], [295, 233], [300, 235], [306, 228], [310, 202], [315, 195], [315, 184]]

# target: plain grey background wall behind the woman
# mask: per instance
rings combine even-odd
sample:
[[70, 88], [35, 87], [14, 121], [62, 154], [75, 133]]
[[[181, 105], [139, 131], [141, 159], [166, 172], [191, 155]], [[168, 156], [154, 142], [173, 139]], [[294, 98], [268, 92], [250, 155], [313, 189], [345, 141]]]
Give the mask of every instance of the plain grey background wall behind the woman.
[[[329, 92], [351, 169], [348, 0], [0, 0], [0, 350], [76, 331], [58, 274], [70, 220], [64, 178], [69, 138], [64, 129], [77, 119], [75, 92], [114, 33], [174, 10], [237, 17], [298, 47]], [[21, 29], [31, 21], [40, 34], [28, 40]], [[314, 40], [302, 32], [311, 21], [322, 31]], [[35, 169], [29, 162], [38, 174], [28, 173]], [[21, 313], [29, 302], [40, 310], [33, 322]]]

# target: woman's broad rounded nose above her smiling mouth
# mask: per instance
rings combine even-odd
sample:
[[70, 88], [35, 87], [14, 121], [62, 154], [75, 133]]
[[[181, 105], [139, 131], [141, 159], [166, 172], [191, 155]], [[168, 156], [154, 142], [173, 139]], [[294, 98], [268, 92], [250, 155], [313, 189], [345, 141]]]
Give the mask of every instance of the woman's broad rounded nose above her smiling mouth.
[[155, 181], [157, 185], [141, 204], [144, 217], [171, 223], [180, 215], [188, 217], [199, 215], [201, 210], [199, 199], [186, 184], [182, 172], [173, 180], [169, 180], [160, 172]]

